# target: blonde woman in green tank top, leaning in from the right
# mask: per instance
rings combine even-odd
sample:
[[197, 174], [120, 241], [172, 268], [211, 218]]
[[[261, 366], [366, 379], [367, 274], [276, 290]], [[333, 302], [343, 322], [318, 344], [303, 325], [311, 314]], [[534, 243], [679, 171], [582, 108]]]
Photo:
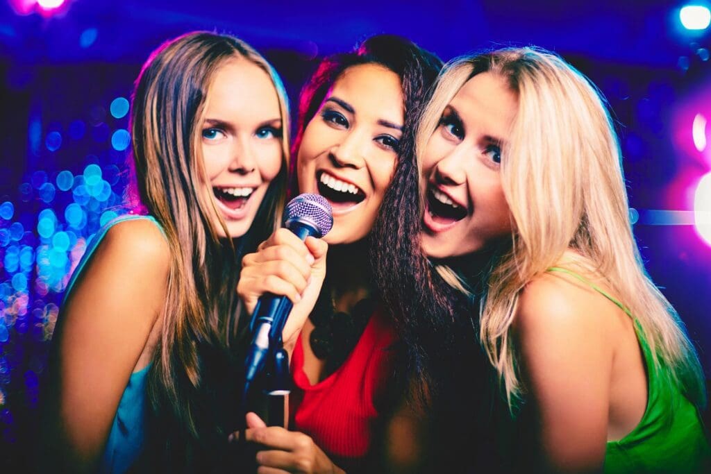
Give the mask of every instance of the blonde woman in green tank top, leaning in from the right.
[[532, 422], [538, 466], [707, 468], [702, 370], [644, 271], [594, 85], [535, 48], [454, 60], [417, 153], [422, 247], [451, 286], [483, 295], [481, 345]]

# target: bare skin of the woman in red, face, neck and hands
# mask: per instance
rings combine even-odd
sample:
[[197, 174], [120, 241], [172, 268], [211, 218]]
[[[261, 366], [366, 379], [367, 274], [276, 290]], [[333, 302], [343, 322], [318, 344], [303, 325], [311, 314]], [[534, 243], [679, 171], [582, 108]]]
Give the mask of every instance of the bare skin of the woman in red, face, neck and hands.
[[[400, 79], [394, 72], [379, 65], [358, 65], [343, 72], [304, 131], [296, 166], [299, 190], [318, 193], [319, 179], [327, 173], [357, 186], [365, 198], [356, 205], [333, 203], [333, 229], [323, 240], [310, 237], [301, 242], [279, 230], [242, 261], [237, 292], [250, 312], [265, 292], [284, 294], [294, 302], [284, 328], [284, 347], [290, 352], [301, 333], [304, 372], [312, 384], [328, 375], [308, 337], [314, 328], [308, 316], [326, 276], [326, 242], [336, 246], [331, 248], [332, 259], [349, 262], [329, 268], [337, 272], [332, 275], [338, 287], [336, 309], [348, 311], [370, 291], [358, 241], [373, 227], [392, 180], [403, 121]], [[346, 252], [338, 252], [339, 246]], [[338, 273], [339, 268], [347, 273]], [[257, 455], [259, 473], [342, 472], [304, 433], [266, 427], [255, 414], [247, 416], [247, 426], [247, 441], [264, 448]]]

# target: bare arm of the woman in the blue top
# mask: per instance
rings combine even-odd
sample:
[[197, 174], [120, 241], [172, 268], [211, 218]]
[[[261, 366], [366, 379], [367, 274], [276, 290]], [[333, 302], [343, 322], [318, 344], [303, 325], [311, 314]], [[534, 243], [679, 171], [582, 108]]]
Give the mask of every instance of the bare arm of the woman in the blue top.
[[62, 308], [45, 394], [49, 467], [97, 467], [119, 399], [166, 296], [169, 248], [154, 224], [112, 227]]

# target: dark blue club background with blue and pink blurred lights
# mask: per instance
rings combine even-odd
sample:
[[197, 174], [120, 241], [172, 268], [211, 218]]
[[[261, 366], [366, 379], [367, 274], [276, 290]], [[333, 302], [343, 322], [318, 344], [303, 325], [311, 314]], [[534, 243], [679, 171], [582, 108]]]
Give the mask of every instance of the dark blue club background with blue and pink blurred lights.
[[[375, 33], [407, 36], [444, 60], [504, 45], [562, 55], [610, 102], [647, 269], [710, 374], [711, 244], [693, 225], [695, 190], [711, 171], [711, 146], [702, 146], [711, 136], [702, 126], [711, 120], [710, 35], [681, 26], [683, 5], [65, 0], [42, 9], [0, 0], [0, 470], [23, 470], [35, 453], [38, 379], [68, 274], [119, 212], [124, 99], [151, 50], [195, 29], [255, 46], [292, 104], [320, 58]], [[711, 190], [696, 205], [711, 211]]]

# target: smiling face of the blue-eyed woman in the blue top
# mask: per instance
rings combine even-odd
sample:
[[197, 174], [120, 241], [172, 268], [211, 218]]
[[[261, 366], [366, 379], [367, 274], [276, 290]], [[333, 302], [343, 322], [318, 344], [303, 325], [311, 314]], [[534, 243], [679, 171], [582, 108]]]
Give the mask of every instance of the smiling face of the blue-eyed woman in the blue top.
[[[215, 72], [204, 117], [201, 144], [209, 182], [204, 192], [215, 199], [230, 237], [242, 237], [282, 167], [277, 90], [255, 63], [229, 60]], [[217, 215], [213, 225], [227, 237]]]

